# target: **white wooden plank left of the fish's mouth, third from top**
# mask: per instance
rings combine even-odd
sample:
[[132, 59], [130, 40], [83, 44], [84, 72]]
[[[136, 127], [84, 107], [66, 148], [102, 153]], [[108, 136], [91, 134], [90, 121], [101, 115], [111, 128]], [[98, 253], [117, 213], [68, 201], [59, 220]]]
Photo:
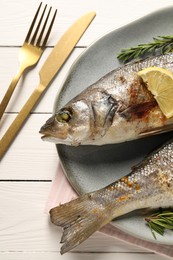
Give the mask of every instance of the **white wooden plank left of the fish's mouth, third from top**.
[[[51, 115], [32, 114], [15, 138], [0, 163], [0, 179], [52, 180], [60, 169], [59, 157], [54, 144], [43, 142], [40, 127]], [[5, 132], [15, 115], [5, 115]]]

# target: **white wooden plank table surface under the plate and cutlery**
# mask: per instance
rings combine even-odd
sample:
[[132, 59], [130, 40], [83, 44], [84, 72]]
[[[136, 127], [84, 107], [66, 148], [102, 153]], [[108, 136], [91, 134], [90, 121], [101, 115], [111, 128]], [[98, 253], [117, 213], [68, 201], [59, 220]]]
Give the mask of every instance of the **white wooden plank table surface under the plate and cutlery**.
[[[0, 0], [0, 3], [1, 100], [17, 71], [20, 46], [39, 1]], [[58, 8], [56, 23], [38, 65], [17, 86], [1, 120], [1, 137], [37, 86], [38, 71], [57, 40], [84, 13], [93, 10], [97, 16], [0, 163], [0, 259], [165, 259], [100, 232], [72, 252], [60, 255], [61, 230], [50, 224], [49, 216], [44, 213], [59, 159], [55, 145], [42, 142], [38, 131], [52, 113], [56, 93], [70, 66], [87, 46], [113, 29], [171, 6], [172, 0], [47, 0], [43, 3]]]

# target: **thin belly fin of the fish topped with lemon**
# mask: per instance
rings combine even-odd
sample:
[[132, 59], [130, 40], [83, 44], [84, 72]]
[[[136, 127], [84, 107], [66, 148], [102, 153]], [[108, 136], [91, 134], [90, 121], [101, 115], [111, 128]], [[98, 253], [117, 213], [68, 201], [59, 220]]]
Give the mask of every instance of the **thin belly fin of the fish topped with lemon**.
[[166, 133], [172, 130], [173, 130], [173, 123], [143, 131], [139, 134], [139, 137], [147, 137], [151, 135]]

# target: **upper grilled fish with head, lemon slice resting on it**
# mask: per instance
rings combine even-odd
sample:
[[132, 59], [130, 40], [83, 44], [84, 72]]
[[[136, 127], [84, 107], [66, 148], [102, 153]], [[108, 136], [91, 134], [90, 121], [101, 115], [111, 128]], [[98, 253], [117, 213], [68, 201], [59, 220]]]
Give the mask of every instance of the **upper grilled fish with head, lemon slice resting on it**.
[[147, 67], [173, 72], [173, 53], [129, 63], [89, 86], [42, 126], [43, 140], [67, 145], [103, 145], [173, 129], [137, 72]]

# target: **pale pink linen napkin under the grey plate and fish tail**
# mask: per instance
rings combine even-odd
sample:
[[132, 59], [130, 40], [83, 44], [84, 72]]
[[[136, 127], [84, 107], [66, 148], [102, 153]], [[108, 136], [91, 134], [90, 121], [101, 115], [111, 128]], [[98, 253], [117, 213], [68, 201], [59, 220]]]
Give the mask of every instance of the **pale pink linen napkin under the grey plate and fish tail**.
[[[68, 180], [66, 179], [61, 166], [58, 166], [57, 173], [55, 178], [52, 182], [52, 187], [50, 190], [50, 194], [46, 204], [46, 212], [48, 213], [49, 210], [60, 203], [63, 204], [71, 199], [77, 197], [76, 192], [70, 186]], [[130, 243], [136, 246], [139, 246], [143, 249], [147, 249], [149, 251], [173, 258], [173, 246], [167, 245], [158, 245], [156, 243], [148, 242], [132, 235], [128, 235], [127, 233], [119, 230], [118, 228], [114, 227], [111, 224], [106, 225], [103, 227], [100, 232], [120, 239], [126, 243]]]

